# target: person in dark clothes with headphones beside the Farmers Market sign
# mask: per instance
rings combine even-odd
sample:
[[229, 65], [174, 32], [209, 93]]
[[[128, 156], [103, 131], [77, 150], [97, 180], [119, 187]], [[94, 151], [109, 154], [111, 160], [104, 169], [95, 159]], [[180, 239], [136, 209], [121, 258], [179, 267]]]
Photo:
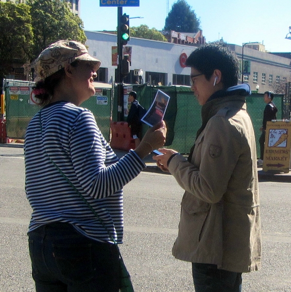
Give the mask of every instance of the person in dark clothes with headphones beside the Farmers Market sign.
[[271, 91], [266, 91], [264, 93], [264, 102], [267, 105], [264, 110], [263, 126], [260, 128], [260, 131], [262, 131], [262, 134], [258, 140], [260, 144], [260, 159], [257, 161], [258, 164], [263, 164], [267, 122], [271, 122], [272, 120], [277, 119], [276, 113], [278, 109], [276, 108], [273, 102], [273, 98], [274, 98], [274, 94]]

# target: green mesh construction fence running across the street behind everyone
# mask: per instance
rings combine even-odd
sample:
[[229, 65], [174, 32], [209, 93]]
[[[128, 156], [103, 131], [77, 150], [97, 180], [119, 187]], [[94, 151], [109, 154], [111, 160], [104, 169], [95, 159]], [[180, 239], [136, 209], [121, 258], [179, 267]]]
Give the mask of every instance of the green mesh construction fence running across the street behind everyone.
[[[11, 91], [11, 87], [31, 87], [33, 82], [24, 82], [16, 80], [5, 80], [5, 104], [6, 104], [6, 133], [8, 138], [23, 139], [29, 121], [34, 114], [40, 110], [36, 105], [31, 104], [30, 93], [18, 91], [18, 94]], [[194, 97], [190, 87], [187, 86], [148, 86], [132, 85], [132, 90], [137, 91], [137, 100], [140, 104], [149, 109], [155, 94], [161, 90], [168, 94], [170, 102], [165, 114], [165, 121], [168, 132], [166, 147], [176, 149], [180, 153], [189, 153], [193, 145], [196, 132], [201, 126], [201, 106]], [[96, 118], [98, 127], [101, 129], [105, 139], [110, 142], [110, 121], [117, 121], [118, 102], [117, 90], [99, 89], [99, 96], [92, 96], [82, 104], [82, 107], [91, 110]], [[101, 100], [100, 102], [100, 98]], [[99, 99], [98, 99], [99, 98]], [[284, 96], [275, 95], [274, 103], [278, 108], [277, 119], [284, 117]], [[262, 126], [263, 111], [265, 103], [262, 93], [252, 93], [246, 98], [247, 112], [253, 122], [256, 135], [257, 154], [259, 153], [258, 139], [260, 137], [259, 128]], [[126, 118], [124, 118], [126, 120]], [[143, 125], [143, 132], [149, 127]]]

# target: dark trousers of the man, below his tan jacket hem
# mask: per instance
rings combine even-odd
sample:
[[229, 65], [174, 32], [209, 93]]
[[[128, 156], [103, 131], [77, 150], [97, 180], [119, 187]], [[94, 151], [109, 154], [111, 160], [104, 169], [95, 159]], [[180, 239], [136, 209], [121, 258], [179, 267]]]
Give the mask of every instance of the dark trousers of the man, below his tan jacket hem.
[[241, 273], [217, 269], [217, 265], [192, 263], [195, 292], [241, 292]]

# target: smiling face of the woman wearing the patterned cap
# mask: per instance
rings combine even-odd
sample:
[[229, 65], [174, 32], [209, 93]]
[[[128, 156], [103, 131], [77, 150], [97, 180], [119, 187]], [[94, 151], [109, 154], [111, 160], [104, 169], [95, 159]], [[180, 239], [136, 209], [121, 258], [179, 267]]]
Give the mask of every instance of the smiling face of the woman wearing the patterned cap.
[[90, 61], [80, 61], [76, 67], [72, 67], [72, 85], [82, 101], [87, 100], [95, 94], [93, 78], [97, 77], [95, 73], [95, 64]]

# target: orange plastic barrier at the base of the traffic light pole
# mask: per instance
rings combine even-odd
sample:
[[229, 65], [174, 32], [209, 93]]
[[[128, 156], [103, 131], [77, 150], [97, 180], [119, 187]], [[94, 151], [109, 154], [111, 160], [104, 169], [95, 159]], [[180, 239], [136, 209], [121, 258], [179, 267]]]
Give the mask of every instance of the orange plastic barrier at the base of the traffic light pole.
[[125, 151], [135, 149], [135, 139], [131, 137], [130, 128], [126, 122], [110, 122], [110, 128], [112, 133], [111, 148]]

